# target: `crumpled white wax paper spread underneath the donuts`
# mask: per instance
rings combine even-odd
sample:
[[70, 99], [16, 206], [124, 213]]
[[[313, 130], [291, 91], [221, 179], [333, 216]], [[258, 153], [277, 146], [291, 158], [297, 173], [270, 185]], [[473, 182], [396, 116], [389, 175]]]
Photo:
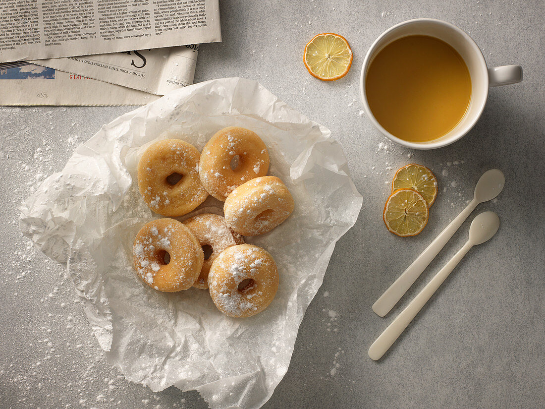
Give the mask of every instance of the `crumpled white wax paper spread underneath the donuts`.
[[[231, 125], [262, 137], [269, 174], [295, 200], [282, 225], [247, 238], [272, 254], [280, 273], [276, 298], [250, 318], [221, 314], [207, 291], [155, 291], [132, 267], [137, 231], [160, 217], [138, 193], [138, 155], [165, 137], [202, 149]], [[328, 129], [258, 82], [228, 78], [178, 89], [102, 127], [25, 201], [20, 225], [46, 255], [68, 263], [96, 339], [128, 380], [154, 391], [197, 389], [211, 408], [250, 409], [286, 374], [305, 310], [361, 204]], [[209, 197], [196, 212], [221, 209]]]

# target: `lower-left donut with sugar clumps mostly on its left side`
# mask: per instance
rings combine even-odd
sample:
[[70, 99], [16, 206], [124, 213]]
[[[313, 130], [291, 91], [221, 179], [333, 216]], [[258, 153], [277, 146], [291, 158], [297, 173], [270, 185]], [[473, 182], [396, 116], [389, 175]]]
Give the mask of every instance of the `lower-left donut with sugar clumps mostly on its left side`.
[[204, 262], [201, 244], [189, 228], [168, 218], [150, 221], [140, 229], [132, 255], [140, 278], [155, 290], [165, 292], [191, 287]]

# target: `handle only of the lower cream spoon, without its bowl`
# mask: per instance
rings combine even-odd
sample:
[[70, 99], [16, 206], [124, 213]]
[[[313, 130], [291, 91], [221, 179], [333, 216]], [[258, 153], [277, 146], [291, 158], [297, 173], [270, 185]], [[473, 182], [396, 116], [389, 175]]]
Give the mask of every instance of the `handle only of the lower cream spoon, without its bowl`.
[[437, 291], [437, 288], [443, 281], [449, 276], [452, 270], [458, 265], [460, 260], [467, 254], [469, 249], [473, 247], [473, 244], [467, 242], [464, 246], [452, 257], [449, 262], [445, 264], [443, 268], [439, 270], [439, 273], [426, 284], [422, 291], [420, 291], [416, 297], [405, 307], [395, 320], [379, 335], [373, 345], [369, 348], [369, 357], [371, 359], [380, 359], [384, 353], [392, 346], [393, 342], [401, 335], [401, 333], [407, 328], [413, 318], [420, 312], [422, 307], [428, 302], [429, 298], [433, 296], [433, 293]]

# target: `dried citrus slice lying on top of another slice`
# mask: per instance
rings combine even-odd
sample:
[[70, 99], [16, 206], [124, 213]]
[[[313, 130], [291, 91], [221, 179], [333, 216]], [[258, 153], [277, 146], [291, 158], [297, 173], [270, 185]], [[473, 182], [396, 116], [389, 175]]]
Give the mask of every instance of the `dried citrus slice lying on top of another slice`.
[[428, 222], [428, 203], [416, 190], [399, 189], [386, 200], [382, 217], [393, 234], [416, 236]]

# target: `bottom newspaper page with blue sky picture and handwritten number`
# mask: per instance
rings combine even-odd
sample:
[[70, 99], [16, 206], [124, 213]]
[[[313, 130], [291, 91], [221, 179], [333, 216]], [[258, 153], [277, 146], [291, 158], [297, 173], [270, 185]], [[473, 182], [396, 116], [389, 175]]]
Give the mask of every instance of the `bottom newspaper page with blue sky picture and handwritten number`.
[[144, 105], [158, 98], [28, 62], [0, 64], [0, 105]]

